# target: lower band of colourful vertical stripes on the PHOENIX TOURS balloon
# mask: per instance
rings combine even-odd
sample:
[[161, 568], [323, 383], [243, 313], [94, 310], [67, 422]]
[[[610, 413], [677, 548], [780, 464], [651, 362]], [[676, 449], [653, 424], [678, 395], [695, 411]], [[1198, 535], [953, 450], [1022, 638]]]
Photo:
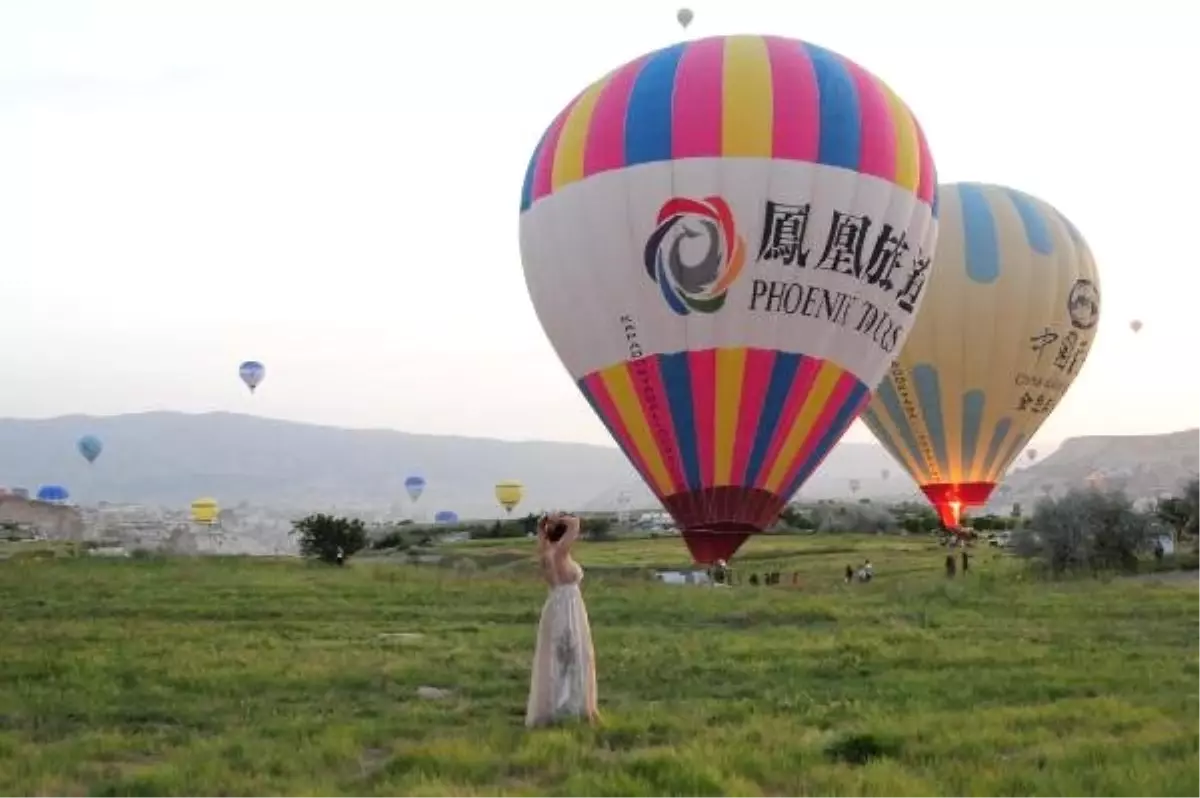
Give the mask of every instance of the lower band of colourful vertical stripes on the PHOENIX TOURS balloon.
[[660, 498], [744, 486], [786, 500], [868, 398], [833, 361], [751, 348], [652, 355], [578, 384]]

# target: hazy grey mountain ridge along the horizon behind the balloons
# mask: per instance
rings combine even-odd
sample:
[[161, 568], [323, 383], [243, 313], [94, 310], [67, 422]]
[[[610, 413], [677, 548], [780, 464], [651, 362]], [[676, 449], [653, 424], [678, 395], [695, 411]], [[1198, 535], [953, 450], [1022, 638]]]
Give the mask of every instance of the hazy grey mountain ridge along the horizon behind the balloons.
[[[76, 451], [84, 434], [104, 443], [90, 467]], [[1135, 496], [1154, 496], [1200, 470], [1200, 430], [1069, 438], [1042, 460], [1022, 462], [1006, 479], [1003, 503], [1031, 502], [1048, 484], [1066, 490], [1094, 482], [1097, 474]], [[403, 487], [410, 474], [427, 481], [415, 508]], [[224, 410], [0, 419], [0, 485], [58, 482], [83, 504], [106, 499], [186, 506], [214, 496], [226, 506], [356, 508], [430, 518], [450, 509], [464, 518], [487, 518], [503, 515], [492, 491], [504, 479], [526, 485], [518, 514], [612, 510], [622, 493], [629, 494], [631, 508], [658, 505], [611, 445], [341, 427]], [[860, 482], [854, 496], [852, 479]], [[878, 444], [846, 442], [799, 496], [901, 499], [916, 498], [917, 487]]]

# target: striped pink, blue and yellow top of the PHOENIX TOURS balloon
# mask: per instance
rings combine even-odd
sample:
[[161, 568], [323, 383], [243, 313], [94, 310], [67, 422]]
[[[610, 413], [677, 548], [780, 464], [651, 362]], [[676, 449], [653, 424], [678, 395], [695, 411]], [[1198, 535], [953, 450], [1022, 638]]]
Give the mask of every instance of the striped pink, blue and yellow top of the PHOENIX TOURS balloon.
[[852, 169], [935, 202], [920, 125], [877, 77], [814, 44], [724, 36], [650, 53], [588, 86], [534, 150], [521, 210], [594, 174], [703, 157]]

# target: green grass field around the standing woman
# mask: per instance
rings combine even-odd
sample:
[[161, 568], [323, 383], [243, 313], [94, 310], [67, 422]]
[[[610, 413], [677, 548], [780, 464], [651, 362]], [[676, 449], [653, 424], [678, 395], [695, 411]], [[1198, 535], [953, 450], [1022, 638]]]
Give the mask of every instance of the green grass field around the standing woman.
[[[1045, 583], [980, 552], [948, 582], [931, 541], [785, 538], [742, 558], [782, 586], [709, 589], [637, 570], [678, 540], [580, 550], [604, 721], [533, 733], [524, 541], [451, 568], [2, 562], [0, 796], [1200, 791], [1190, 580]], [[876, 581], [844, 586], [864, 557]]]

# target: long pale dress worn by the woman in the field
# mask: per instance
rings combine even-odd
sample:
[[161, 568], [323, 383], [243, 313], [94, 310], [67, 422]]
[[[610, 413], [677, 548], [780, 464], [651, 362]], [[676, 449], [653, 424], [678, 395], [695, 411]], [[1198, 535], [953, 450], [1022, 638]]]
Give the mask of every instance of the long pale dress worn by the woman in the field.
[[[546, 726], [562, 720], [594, 719], [596, 667], [592, 626], [583, 605], [580, 582], [583, 569], [566, 563], [569, 578], [550, 588], [538, 623], [538, 648], [529, 678], [526, 726]], [[546, 566], [548, 572], [554, 569]]]

